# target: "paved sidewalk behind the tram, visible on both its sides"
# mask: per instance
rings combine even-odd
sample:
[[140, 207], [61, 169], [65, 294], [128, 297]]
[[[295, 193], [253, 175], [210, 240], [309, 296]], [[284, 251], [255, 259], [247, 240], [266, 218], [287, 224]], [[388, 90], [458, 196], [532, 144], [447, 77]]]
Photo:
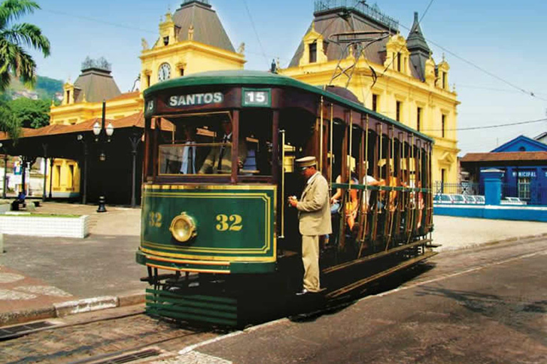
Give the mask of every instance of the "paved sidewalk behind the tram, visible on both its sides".
[[[96, 213], [93, 205], [44, 203], [37, 212], [90, 215], [90, 236], [73, 239], [4, 235], [5, 252], [0, 255], [0, 326], [62, 314], [67, 309], [67, 305], [63, 306], [66, 301], [90, 309], [93, 305], [112, 307], [143, 300], [147, 284], [140, 282], [140, 277], [147, 272], [135, 262], [140, 241], [139, 208], [108, 207], [107, 213]], [[435, 216], [434, 223], [433, 239], [442, 245], [437, 248], [441, 252], [547, 235], [546, 223], [449, 216]]]

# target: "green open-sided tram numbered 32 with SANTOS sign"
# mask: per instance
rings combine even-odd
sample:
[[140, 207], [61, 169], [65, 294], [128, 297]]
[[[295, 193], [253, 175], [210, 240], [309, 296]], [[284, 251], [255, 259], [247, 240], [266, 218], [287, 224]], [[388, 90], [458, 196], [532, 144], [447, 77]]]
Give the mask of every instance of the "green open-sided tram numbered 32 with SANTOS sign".
[[321, 241], [323, 297], [431, 257], [431, 153], [432, 139], [340, 87], [246, 70], [153, 85], [136, 254], [147, 312], [239, 325], [294, 300], [301, 236], [287, 199], [305, 183], [301, 156], [316, 156], [338, 196]]

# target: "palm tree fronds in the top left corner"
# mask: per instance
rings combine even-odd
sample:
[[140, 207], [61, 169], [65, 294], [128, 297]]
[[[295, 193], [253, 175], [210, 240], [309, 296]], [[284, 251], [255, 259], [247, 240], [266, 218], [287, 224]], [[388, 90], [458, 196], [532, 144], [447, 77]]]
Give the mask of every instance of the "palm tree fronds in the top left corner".
[[13, 22], [40, 6], [29, 0], [5, 0], [0, 4], [0, 91], [9, 86], [11, 74], [20, 77], [26, 84], [36, 79], [36, 62], [24, 46], [40, 50], [44, 57], [49, 55], [48, 38], [40, 28], [29, 23]]

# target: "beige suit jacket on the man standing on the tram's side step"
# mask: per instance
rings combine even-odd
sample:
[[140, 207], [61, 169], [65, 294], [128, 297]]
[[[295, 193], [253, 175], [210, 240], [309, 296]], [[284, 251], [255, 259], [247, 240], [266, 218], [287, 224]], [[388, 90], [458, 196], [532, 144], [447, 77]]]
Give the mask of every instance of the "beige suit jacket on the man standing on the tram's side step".
[[302, 235], [325, 235], [333, 232], [330, 223], [328, 182], [321, 174], [306, 184], [296, 209]]

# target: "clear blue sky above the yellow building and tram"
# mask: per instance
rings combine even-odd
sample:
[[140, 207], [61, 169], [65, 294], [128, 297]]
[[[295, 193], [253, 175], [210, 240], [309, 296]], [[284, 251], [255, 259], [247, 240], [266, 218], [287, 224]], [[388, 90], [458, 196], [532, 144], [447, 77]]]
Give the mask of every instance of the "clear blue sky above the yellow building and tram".
[[[38, 75], [73, 82], [81, 63], [105, 57], [122, 92], [140, 73], [141, 39], [155, 43], [160, 17], [183, 0], [36, 0], [41, 10], [19, 19], [51, 42], [51, 55], [31, 52]], [[313, 19], [314, 0], [210, 0], [234, 48], [245, 43], [248, 70], [288, 65]], [[348, 6], [356, 1], [347, 0]], [[377, 0], [407, 37], [414, 12], [436, 63], [444, 53], [458, 100], [459, 155], [486, 152], [523, 134], [547, 132], [547, 1]], [[427, 10], [427, 11], [426, 11]], [[442, 48], [440, 48], [442, 47]], [[534, 96], [531, 96], [533, 93]]]

